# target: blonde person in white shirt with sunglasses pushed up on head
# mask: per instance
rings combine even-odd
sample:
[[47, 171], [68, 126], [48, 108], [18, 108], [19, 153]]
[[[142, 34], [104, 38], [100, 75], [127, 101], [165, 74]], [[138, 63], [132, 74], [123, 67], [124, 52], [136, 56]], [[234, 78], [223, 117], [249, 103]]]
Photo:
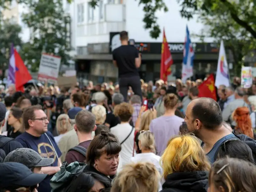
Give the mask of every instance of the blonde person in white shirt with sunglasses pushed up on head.
[[[157, 171], [162, 175], [163, 170], [160, 166], [159, 160], [160, 156], [156, 155], [156, 145], [155, 145], [155, 137], [149, 131], [140, 131], [139, 135], [139, 149], [141, 151], [140, 154], [135, 155], [131, 158], [131, 161], [134, 163], [138, 162], [151, 162], [156, 166]], [[161, 181], [159, 180], [159, 191], [162, 190]]]

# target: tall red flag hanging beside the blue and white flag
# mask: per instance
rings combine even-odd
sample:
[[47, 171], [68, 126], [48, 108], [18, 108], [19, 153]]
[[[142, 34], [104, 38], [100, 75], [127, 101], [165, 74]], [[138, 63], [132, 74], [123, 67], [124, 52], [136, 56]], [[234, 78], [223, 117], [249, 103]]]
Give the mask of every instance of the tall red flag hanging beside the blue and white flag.
[[172, 63], [173, 63], [172, 55], [169, 50], [169, 46], [165, 37], [165, 31], [164, 31], [162, 52], [161, 52], [160, 79], [167, 81], [167, 76], [172, 73], [171, 71]]

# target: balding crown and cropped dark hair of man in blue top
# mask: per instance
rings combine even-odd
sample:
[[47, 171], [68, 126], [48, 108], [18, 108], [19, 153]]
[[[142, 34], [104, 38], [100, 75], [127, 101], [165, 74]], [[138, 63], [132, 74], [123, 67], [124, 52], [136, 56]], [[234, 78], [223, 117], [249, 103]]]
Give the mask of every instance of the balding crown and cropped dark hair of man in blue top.
[[194, 103], [191, 108], [191, 116], [194, 120], [200, 120], [203, 127], [214, 130], [222, 125], [222, 112], [215, 100], [201, 97], [191, 102]]

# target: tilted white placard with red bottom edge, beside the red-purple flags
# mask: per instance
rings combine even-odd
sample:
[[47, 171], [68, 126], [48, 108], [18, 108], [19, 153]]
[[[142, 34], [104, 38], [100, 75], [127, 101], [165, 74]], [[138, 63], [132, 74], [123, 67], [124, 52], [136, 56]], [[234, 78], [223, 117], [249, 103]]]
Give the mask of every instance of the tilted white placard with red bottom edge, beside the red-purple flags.
[[61, 58], [43, 53], [40, 60], [38, 79], [41, 81], [52, 80], [57, 82]]

